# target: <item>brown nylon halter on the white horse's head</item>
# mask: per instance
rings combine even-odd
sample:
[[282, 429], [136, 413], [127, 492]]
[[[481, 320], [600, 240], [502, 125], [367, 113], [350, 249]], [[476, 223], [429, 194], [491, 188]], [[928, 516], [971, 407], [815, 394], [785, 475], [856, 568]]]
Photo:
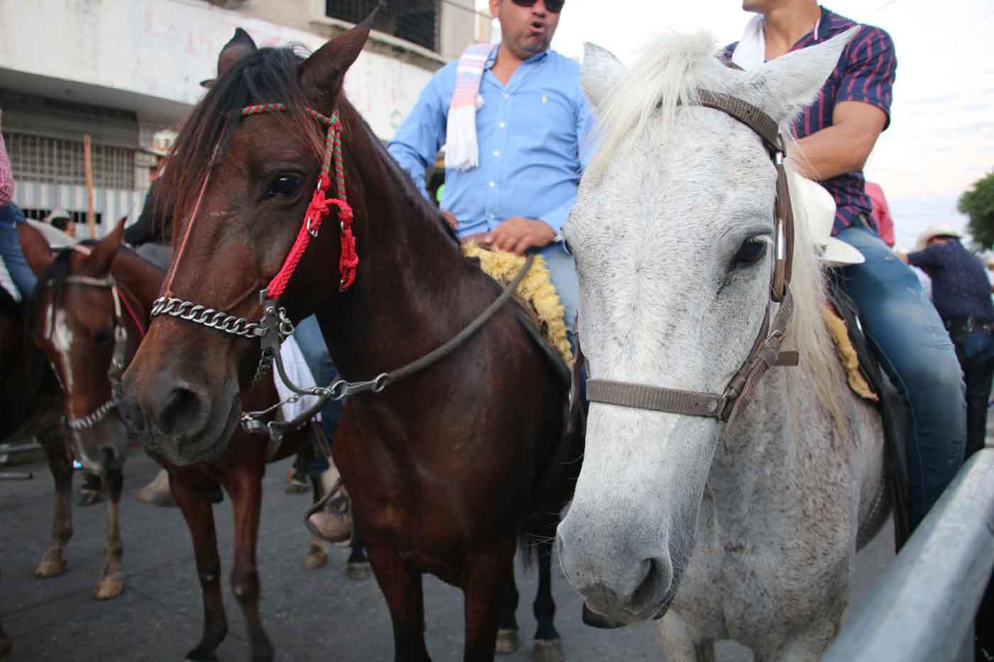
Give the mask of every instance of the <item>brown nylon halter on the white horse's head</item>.
[[[773, 273], [770, 276], [770, 301], [762, 326], [752, 349], [739, 372], [732, 378], [725, 392], [701, 393], [683, 389], [588, 380], [586, 396], [591, 403], [617, 405], [653, 412], [683, 414], [718, 418], [729, 423], [734, 434], [734, 420], [748, 405], [759, 379], [774, 365], [797, 365], [796, 352], [781, 352], [783, 335], [793, 314], [794, 302], [790, 294], [790, 276], [793, 262], [794, 218], [790, 206], [790, 192], [783, 168], [784, 145], [776, 122], [765, 112], [732, 96], [708, 90], [699, 92], [699, 105], [725, 112], [752, 129], [761, 139], [776, 166], [776, 202], [774, 203]], [[779, 303], [779, 310], [770, 324], [770, 307]]]

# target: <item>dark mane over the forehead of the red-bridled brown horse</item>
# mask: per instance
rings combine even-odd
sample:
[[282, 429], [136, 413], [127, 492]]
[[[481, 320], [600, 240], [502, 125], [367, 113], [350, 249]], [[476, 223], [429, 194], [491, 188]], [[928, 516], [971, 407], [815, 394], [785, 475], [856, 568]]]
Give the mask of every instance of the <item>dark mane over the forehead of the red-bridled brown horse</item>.
[[320, 159], [323, 136], [317, 134], [315, 120], [307, 114], [306, 108], [313, 101], [307, 98], [298, 76], [305, 53], [300, 46], [258, 49], [215, 82], [183, 121], [167, 157], [155, 201], [159, 218], [175, 216], [179, 220], [186, 215], [204, 178], [224, 160], [242, 108], [247, 105], [285, 104], [285, 111], [272, 115]]

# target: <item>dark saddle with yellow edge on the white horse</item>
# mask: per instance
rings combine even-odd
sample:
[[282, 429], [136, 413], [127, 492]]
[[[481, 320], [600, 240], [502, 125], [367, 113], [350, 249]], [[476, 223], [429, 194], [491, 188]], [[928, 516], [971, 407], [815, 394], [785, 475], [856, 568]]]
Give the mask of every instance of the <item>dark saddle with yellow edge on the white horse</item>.
[[[846, 368], [849, 377], [850, 388], [859, 396], [869, 401], [876, 402], [884, 421], [884, 469], [885, 480], [881, 492], [886, 489], [887, 494], [880, 493], [875, 499], [874, 510], [885, 507], [885, 496], [890, 496], [892, 510], [894, 513], [894, 539], [897, 551], [908, 541], [910, 527], [908, 522], [908, 449], [906, 439], [908, 438], [908, 405], [904, 396], [898, 391], [887, 373], [882, 369], [880, 358], [876, 354], [876, 349], [870, 340], [863, 333], [856, 304], [842, 289], [839, 277], [830, 273], [827, 278], [829, 303], [832, 313], [845, 326], [848, 332], [848, 340], [851, 349], [855, 352], [855, 357], [849, 356], [836, 338], [836, 346], [839, 347], [840, 361]], [[831, 315], [832, 313], [829, 313]], [[833, 322], [826, 319], [826, 323], [832, 329]], [[874, 520], [874, 512], [871, 512], [867, 521]], [[866, 542], [865, 537], [869, 532], [864, 532], [861, 528], [858, 535], [858, 544]]]

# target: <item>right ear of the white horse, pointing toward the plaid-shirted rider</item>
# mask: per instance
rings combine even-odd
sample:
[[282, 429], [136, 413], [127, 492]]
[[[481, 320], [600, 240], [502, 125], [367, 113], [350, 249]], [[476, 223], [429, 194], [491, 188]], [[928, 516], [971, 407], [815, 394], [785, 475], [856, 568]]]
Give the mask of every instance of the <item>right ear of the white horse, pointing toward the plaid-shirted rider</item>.
[[809, 106], [839, 64], [843, 49], [860, 31], [850, 28], [832, 39], [771, 60], [745, 79], [746, 95], [758, 93], [758, 105], [778, 124]]

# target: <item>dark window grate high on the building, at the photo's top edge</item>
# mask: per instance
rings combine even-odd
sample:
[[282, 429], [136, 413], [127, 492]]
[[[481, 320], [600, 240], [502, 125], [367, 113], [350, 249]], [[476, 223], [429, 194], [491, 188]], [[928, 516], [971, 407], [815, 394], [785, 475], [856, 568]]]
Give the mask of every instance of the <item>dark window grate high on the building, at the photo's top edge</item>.
[[[325, 15], [360, 23], [380, 0], [326, 0]], [[438, 52], [441, 0], [387, 0], [377, 14], [374, 28], [398, 39]]]

